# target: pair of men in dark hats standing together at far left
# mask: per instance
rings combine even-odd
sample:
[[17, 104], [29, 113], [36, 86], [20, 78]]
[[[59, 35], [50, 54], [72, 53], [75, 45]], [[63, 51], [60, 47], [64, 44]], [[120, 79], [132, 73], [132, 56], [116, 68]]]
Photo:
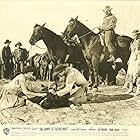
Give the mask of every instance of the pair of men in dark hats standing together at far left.
[[23, 53], [24, 49], [21, 48], [21, 42], [17, 42], [15, 44], [16, 49], [13, 53], [11, 52], [10, 44], [11, 41], [7, 39], [4, 42], [4, 47], [2, 48], [1, 77], [6, 79], [10, 79], [12, 76], [22, 72], [25, 65], [25, 60], [22, 56], [25, 54]]

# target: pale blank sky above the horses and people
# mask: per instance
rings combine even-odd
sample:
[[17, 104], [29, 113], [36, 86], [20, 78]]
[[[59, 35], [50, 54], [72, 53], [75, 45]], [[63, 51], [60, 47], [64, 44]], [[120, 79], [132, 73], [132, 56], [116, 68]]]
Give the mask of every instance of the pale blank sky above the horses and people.
[[103, 9], [110, 5], [117, 17], [116, 33], [128, 35], [134, 29], [140, 29], [139, 1], [96, 1], [96, 0], [0, 0], [0, 48], [6, 39], [12, 41], [11, 49], [20, 41], [30, 54], [43, 53], [46, 46], [43, 41], [37, 43], [44, 49], [31, 47], [29, 39], [33, 26], [46, 22], [46, 27], [61, 34], [71, 17], [78, 19], [91, 30], [103, 21]]

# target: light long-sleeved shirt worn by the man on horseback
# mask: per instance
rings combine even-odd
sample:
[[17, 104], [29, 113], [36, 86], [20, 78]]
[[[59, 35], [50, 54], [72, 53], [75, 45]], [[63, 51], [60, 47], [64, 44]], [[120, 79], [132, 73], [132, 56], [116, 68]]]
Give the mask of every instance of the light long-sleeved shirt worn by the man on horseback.
[[109, 16], [105, 16], [103, 19], [102, 29], [104, 31], [114, 30], [114, 28], [116, 27], [116, 23], [117, 23], [117, 18], [113, 14]]

